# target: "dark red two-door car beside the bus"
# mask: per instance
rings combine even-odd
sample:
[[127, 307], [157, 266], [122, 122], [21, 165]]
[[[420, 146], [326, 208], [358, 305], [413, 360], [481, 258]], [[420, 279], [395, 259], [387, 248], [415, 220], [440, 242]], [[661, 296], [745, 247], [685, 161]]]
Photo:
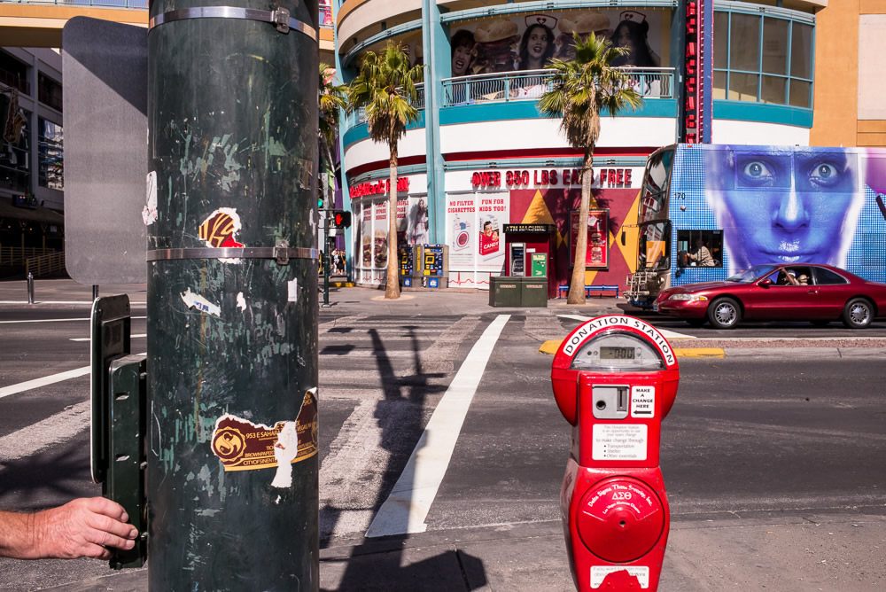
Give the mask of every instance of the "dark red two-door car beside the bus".
[[732, 329], [749, 321], [842, 320], [863, 329], [886, 315], [886, 284], [868, 282], [832, 265], [756, 265], [725, 281], [686, 284], [664, 290], [653, 307], [701, 326]]

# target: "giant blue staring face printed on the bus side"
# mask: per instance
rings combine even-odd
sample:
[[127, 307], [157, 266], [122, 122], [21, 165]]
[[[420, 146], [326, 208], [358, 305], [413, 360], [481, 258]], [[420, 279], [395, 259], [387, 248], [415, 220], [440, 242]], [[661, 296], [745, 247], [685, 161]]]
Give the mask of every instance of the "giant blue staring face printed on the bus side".
[[708, 199], [732, 269], [794, 262], [845, 267], [864, 204], [855, 154], [730, 146], [705, 158]]

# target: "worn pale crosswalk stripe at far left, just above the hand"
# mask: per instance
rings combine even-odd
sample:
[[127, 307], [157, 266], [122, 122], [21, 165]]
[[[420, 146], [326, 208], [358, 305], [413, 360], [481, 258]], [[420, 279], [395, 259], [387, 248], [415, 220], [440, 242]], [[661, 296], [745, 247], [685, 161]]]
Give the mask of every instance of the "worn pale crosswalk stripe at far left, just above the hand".
[[53, 444], [67, 442], [89, 428], [89, 401], [77, 403], [64, 411], [28, 425], [0, 438], [0, 466], [8, 461], [27, 458]]

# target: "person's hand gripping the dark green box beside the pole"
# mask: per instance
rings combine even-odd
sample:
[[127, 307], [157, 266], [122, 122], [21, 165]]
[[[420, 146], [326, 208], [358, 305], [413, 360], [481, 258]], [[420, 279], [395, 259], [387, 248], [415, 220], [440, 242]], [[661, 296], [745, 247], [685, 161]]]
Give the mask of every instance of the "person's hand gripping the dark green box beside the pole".
[[34, 515], [36, 557], [111, 558], [108, 547], [132, 549], [138, 531], [119, 503], [104, 497], [80, 498]]

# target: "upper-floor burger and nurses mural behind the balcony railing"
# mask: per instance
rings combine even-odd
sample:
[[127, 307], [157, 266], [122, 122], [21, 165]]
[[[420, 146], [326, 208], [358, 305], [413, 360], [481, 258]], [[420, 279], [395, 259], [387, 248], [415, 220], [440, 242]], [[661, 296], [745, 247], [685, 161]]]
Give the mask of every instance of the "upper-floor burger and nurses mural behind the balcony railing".
[[626, 47], [613, 66], [661, 66], [662, 12], [595, 10], [496, 17], [452, 27], [452, 75], [538, 70], [552, 58], [575, 59], [573, 32]]

